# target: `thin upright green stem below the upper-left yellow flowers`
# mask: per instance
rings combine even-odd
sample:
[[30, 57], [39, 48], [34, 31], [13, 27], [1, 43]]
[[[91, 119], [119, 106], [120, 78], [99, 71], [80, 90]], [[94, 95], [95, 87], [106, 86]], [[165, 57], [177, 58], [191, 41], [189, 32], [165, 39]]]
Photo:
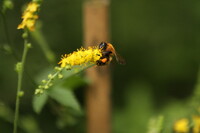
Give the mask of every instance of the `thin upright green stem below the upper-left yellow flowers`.
[[[25, 31], [25, 33], [27, 33]], [[18, 118], [19, 118], [19, 105], [20, 105], [20, 91], [22, 88], [22, 78], [23, 78], [23, 72], [24, 72], [24, 64], [26, 61], [26, 56], [28, 49], [30, 47], [28, 46], [28, 41], [27, 39], [24, 40], [24, 50], [23, 50], [23, 55], [22, 55], [22, 61], [21, 61], [21, 68], [18, 69], [18, 85], [17, 85], [17, 95], [16, 95], [16, 104], [15, 104], [15, 116], [14, 116], [14, 129], [13, 133], [17, 133], [17, 123], [18, 123]]]

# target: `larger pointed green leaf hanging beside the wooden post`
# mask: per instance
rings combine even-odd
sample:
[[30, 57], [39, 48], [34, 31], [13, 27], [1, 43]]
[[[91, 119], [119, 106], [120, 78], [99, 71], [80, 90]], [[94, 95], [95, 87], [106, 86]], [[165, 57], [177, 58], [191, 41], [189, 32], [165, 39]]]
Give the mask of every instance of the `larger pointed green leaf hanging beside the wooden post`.
[[62, 87], [55, 87], [48, 91], [48, 95], [56, 100], [58, 103], [71, 107], [77, 111], [80, 111], [80, 105], [76, 100], [74, 94], [69, 89], [65, 89]]

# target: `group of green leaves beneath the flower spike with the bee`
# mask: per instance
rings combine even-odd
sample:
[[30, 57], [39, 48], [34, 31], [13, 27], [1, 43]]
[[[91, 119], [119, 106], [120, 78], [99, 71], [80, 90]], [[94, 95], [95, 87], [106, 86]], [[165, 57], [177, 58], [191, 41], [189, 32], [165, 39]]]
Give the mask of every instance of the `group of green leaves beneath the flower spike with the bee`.
[[[63, 106], [70, 107], [76, 111], [80, 111], [80, 105], [71, 90], [73, 88], [85, 85], [88, 82], [87, 80], [84, 80], [83, 78], [75, 75], [91, 66], [93, 65], [74, 66], [70, 70], [62, 71], [63, 78], [54, 79], [54, 84], [56, 84], [55, 86], [50, 87], [50, 89], [43, 94], [34, 96], [33, 98], [34, 111], [36, 113], [40, 113], [44, 105], [47, 104], [48, 97], [51, 97], [52, 99], [56, 100], [59, 104]], [[41, 82], [41, 79], [43, 79], [43, 77], [47, 75], [49, 71], [51, 70], [46, 69], [45, 71], [40, 73], [40, 75], [38, 75], [36, 80], [38, 82]]]

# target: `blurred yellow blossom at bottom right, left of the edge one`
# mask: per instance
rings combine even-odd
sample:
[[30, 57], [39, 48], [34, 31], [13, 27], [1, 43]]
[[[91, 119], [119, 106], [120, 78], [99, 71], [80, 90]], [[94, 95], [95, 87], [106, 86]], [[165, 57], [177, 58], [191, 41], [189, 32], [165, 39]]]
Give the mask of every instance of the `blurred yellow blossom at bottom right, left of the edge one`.
[[176, 133], [188, 133], [189, 132], [188, 123], [189, 121], [186, 118], [176, 121], [174, 123], [174, 131]]

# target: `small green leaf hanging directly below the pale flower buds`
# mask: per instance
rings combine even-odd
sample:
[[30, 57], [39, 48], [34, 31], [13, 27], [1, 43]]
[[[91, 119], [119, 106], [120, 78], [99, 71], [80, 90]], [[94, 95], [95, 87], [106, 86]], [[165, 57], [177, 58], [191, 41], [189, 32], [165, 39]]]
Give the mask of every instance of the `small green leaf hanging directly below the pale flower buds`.
[[40, 113], [43, 109], [44, 105], [46, 104], [48, 99], [48, 95], [46, 93], [42, 95], [34, 95], [33, 97], [33, 110], [36, 113]]

